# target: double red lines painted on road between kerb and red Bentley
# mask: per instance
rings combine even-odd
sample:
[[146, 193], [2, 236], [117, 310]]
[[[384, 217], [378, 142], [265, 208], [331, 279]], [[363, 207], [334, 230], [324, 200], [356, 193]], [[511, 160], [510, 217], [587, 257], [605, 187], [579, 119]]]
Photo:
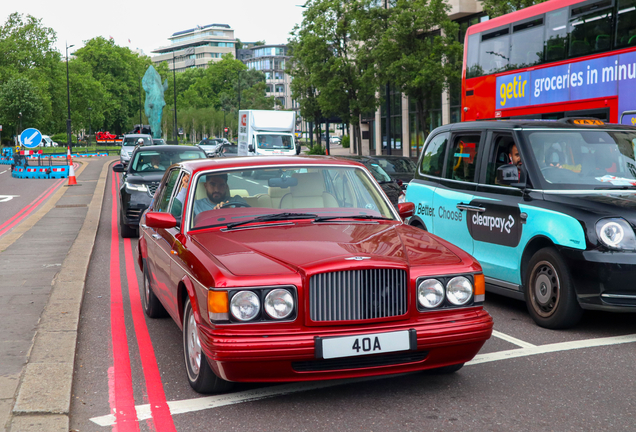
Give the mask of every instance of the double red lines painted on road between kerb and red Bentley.
[[[113, 176], [112, 181], [112, 220], [111, 220], [111, 332], [113, 347], [113, 363], [114, 373], [109, 374], [113, 377], [112, 385], [109, 388], [113, 393], [109, 398], [111, 402], [111, 410], [115, 413], [116, 424], [113, 430], [122, 431], [138, 431], [139, 423], [137, 420], [137, 412], [135, 409], [135, 399], [133, 392], [133, 381], [131, 372], [131, 357], [135, 355], [130, 351], [131, 346], [128, 344], [125, 324], [125, 311], [123, 302], [123, 287], [120, 274], [119, 259], [119, 229], [118, 220], [118, 186], [119, 178]], [[115, 180], [116, 178], [116, 180]], [[166, 402], [165, 393], [159, 367], [155, 357], [154, 349], [150, 341], [148, 327], [146, 325], [143, 309], [141, 306], [141, 297], [139, 294], [139, 282], [135, 272], [135, 260], [133, 258], [133, 246], [130, 239], [125, 239], [124, 245], [124, 264], [125, 264], [125, 282], [128, 286], [130, 297], [130, 313], [132, 315], [135, 340], [139, 349], [139, 356], [142, 363], [143, 376], [145, 381], [144, 399], [150, 404], [152, 418], [149, 423], [157, 432], [176, 431], [170, 409]]]

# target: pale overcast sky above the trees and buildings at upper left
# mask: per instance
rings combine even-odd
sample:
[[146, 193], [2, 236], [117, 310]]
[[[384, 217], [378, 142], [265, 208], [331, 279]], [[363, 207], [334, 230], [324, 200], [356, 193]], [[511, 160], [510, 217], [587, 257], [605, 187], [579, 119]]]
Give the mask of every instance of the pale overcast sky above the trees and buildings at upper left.
[[[64, 43], [75, 45], [97, 36], [113, 37], [115, 43], [146, 55], [169, 45], [174, 32], [197, 25], [229, 24], [234, 36], [245, 42], [265, 40], [286, 43], [289, 32], [302, 21], [304, 0], [2, 0], [4, 24], [13, 12], [41, 18], [57, 33], [56, 46], [64, 55]], [[130, 39], [130, 43], [128, 40]]]

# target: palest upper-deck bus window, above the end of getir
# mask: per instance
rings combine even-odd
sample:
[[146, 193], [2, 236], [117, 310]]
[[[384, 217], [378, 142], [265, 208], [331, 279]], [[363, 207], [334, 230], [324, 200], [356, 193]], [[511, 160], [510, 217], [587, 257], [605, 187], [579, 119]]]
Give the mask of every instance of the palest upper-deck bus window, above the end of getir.
[[510, 67], [520, 68], [543, 61], [543, 18], [533, 18], [512, 26]]

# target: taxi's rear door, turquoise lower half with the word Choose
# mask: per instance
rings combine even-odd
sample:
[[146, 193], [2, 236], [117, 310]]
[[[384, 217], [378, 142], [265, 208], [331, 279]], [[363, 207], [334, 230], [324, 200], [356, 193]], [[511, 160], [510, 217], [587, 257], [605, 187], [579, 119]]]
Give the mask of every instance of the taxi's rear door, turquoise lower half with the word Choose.
[[482, 211], [471, 203], [477, 188], [482, 135], [479, 131], [451, 135], [444, 175], [433, 196], [433, 233], [470, 254], [473, 239], [467, 219]]

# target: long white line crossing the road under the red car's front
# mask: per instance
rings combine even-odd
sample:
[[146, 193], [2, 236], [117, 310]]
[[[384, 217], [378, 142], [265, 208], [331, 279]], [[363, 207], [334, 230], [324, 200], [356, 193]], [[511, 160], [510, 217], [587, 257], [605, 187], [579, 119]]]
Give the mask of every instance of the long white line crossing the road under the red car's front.
[[[507, 335], [506, 335], [507, 336]], [[508, 336], [509, 337], [509, 336]], [[514, 338], [512, 338], [514, 339]], [[518, 339], [517, 339], [518, 341]], [[519, 341], [522, 342], [522, 341]], [[490, 363], [499, 360], [507, 360], [511, 358], [527, 357], [537, 354], [547, 354], [559, 351], [570, 351], [574, 349], [582, 348], [595, 348], [608, 345], [619, 345], [626, 343], [636, 342], [636, 334], [614, 336], [598, 339], [586, 339], [571, 342], [561, 342], [548, 345], [531, 346], [527, 348], [517, 348], [507, 351], [499, 351], [490, 354], [477, 355], [472, 361], [466, 363], [466, 366], [472, 366], [481, 363]], [[525, 342], [524, 342], [525, 343]], [[529, 344], [527, 344], [529, 345]], [[393, 378], [397, 375], [388, 375], [381, 377], [368, 377], [368, 378], [352, 378], [336, 381], [318, 381], [310, 383], [295, 383], [284, 384], [275, 387], [267, 387], [263, 389], [247, 390], [243, 392], [231, 393], [227, 395], [208, 396], [196, 399], [187, 399], [182, 401], [168, 402], [170, 412], [174, 416], [175, 414], [185, 414], [189, 412], [201, 411], [205, 409], [218, 408], [226, 405], [234, 405], [244, 402], [251, 402], [259, 399], [266, 399], [274, 396], [281, 396], [291, 393], [299, 393], [309, 390], [317, 390], [328, 387], [335, 387], [345, 384], [354, 384], [364, 381], [381, 380], [386, 378]], [[138, 405], [135, 407], [137, 410], [137, 416], [139, 420], [146, 420], [150, 418], [150, 405]], [[93, 423], [99, 426], [112, 426], [115, 424], [114, 415], [105, 415], [101, 417], [93, 417], [90, 419]]]

